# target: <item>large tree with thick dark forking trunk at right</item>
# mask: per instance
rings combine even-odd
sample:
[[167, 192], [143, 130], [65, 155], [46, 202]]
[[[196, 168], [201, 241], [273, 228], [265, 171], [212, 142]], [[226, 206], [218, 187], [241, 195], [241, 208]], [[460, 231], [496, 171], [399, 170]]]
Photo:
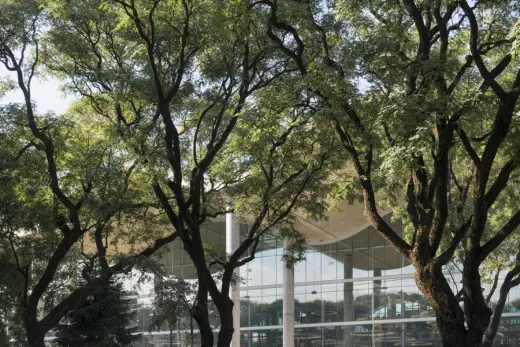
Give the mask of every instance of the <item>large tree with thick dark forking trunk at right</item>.
[[[341, 141], [368, 220], [414, 265], [444, 346], [490, 346], [520, 284], [518, 2], [256, 4], [316, 117]], [[443, 273], [451, 260], [462, 269], [459, 293]], [[481, 289], [490, 262], [507, 267], [494, 312]]]

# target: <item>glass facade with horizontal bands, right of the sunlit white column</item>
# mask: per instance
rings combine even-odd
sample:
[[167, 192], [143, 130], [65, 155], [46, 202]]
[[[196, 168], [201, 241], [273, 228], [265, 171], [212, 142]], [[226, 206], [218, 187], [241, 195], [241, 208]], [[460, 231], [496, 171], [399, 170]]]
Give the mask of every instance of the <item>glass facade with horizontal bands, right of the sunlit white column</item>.
[[[282, 346], [282, 241], [265, 244], [240, 272], [241, 346]], [[413, 274], [372, 228], [310, 246], [294, 274], [296, 346], [442, 346], [435, 314]], [[460, 274], [446, 277], [458, 291]], [[496, 346], [520, 341], [519, 295], [518, 289], [509, 295], [504, 312], [515, 317], [502, 319]]]

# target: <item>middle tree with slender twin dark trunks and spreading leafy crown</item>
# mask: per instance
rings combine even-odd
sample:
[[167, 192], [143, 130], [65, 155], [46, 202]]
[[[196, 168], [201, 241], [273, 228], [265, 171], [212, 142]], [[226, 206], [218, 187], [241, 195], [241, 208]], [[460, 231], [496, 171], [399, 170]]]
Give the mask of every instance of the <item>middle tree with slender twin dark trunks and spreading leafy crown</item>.
[[[274, 62], [264, 13], [247, 2], [51, 4], [48, 68], [147, 158], [157, 199], [197, 270], [192, 313], [202, 345], [213, 345], [208, 294], [220, 316], [218, 346], [229, 345], [233, 273], [266, 233], [294, 234], [292, 211], [323, 213], [332, 144], [321, 142], [334, 139], [309, 122], [309, 101], [288, 92], [290, 83], [267, 88], [289, 60]], [[290, 107], [273, 98], [284, 89]], [[206, 256], [201, 225], [226, 213], [226, 196], [250, 228], [232, 254]]]

